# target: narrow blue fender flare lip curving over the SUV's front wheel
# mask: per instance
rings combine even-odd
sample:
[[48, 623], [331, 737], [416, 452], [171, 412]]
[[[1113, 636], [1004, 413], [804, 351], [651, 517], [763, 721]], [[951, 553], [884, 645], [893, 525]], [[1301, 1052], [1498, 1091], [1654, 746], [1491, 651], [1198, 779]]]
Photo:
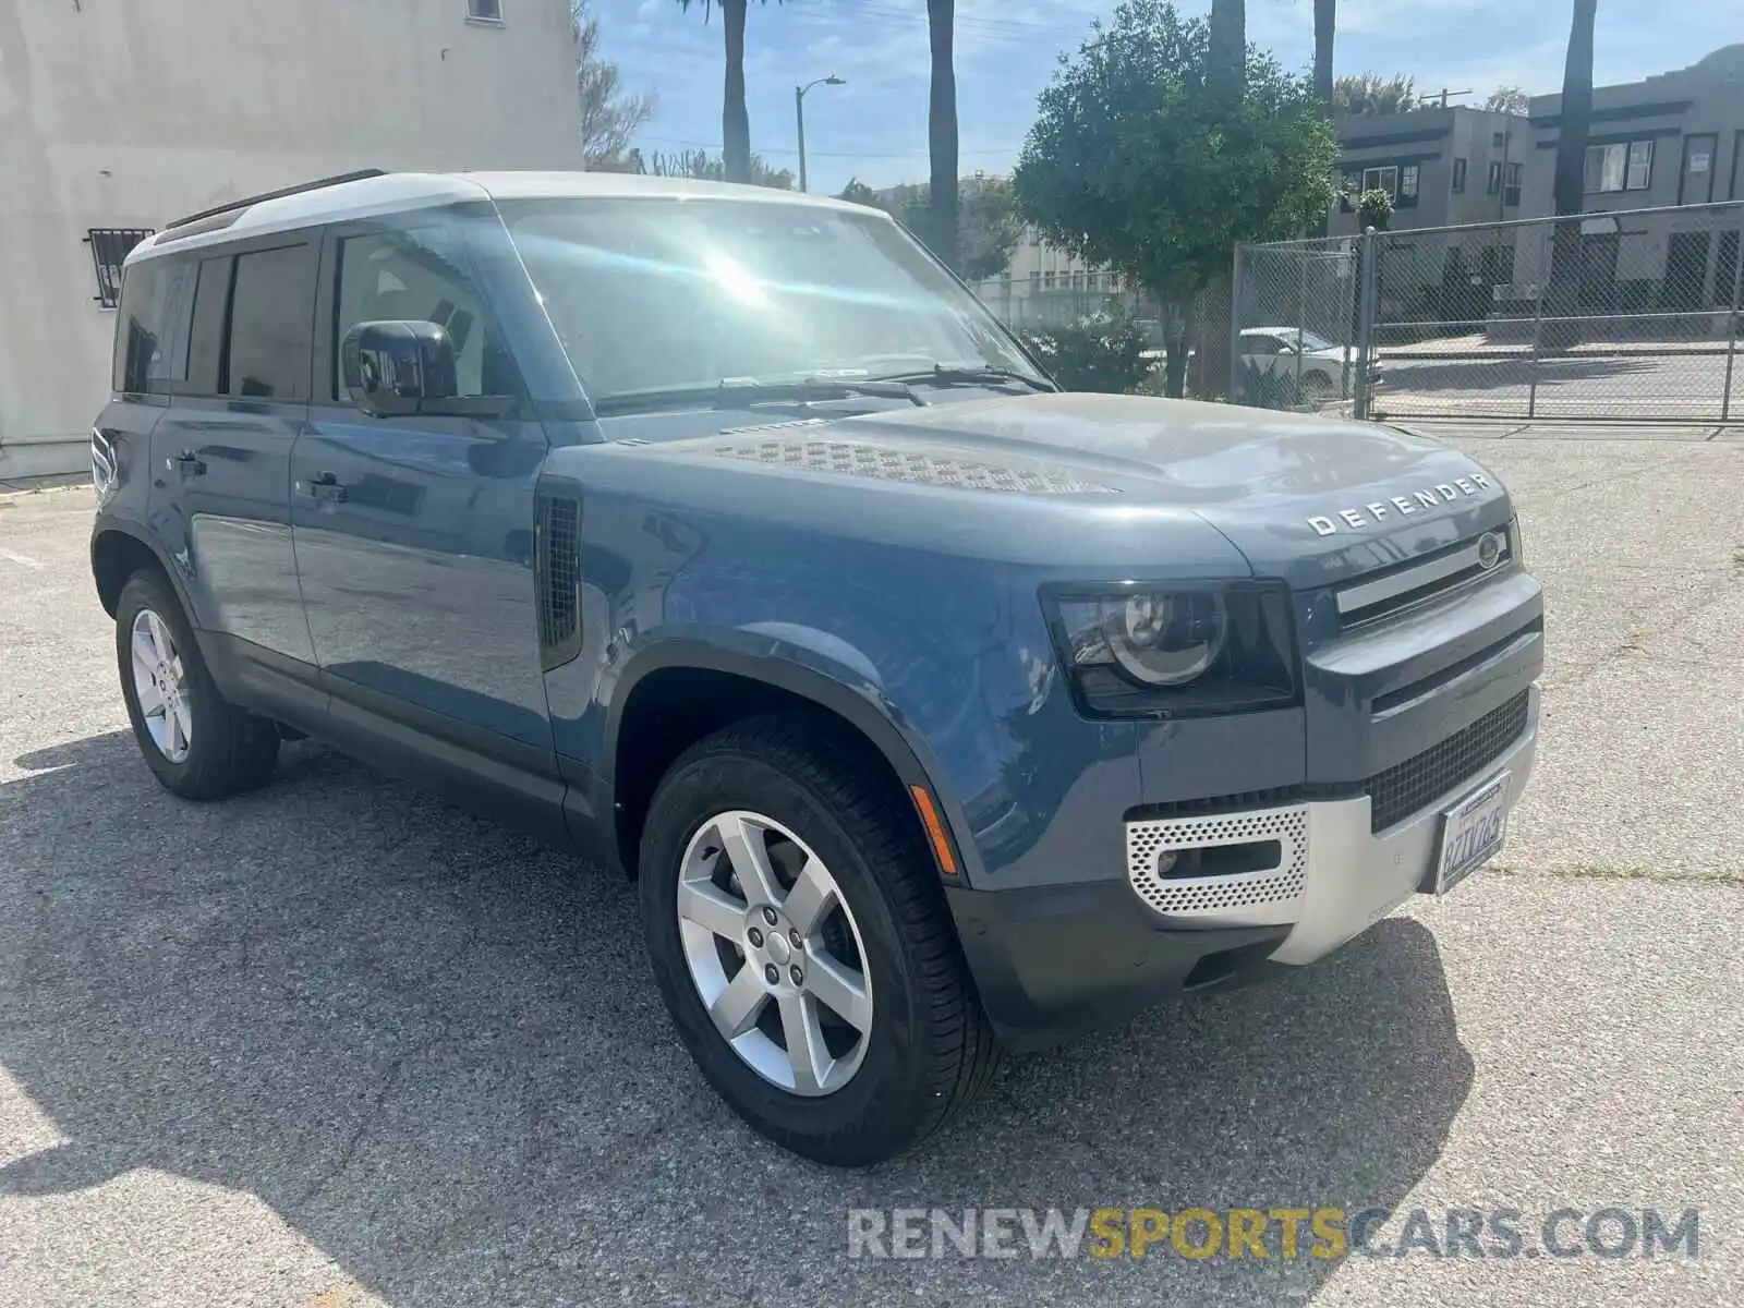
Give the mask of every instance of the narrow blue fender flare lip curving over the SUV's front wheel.
[[[821, 631], [816, 635], [827, 637]], [[933, 752], [923, 738], [903, 724], [881, 685], [869, 680], [865, 671], [814, 647], [788, 640], [771, 642], [767, 635], [738, 630], [720, 633], [720, 637], [724, 638], [670, 637], [654, 640], [637, 651], [624, 664], [607, 708], [602, 776], [609, 792], [616, 790], [623, 710], [637, 685], [666, 668], [696, 668], [745, 677], [807, 699], [842, 719], [872, 743], [872, 748], [882, 755], [905, 788], [924, 787], [945, 821], [952, 853], [964, 872], [963, 881], [970, 886], [975, 884], [980, 858], [975, 841], [968, 839], [968, 818], [963, 814], [957, 797], [935, 780], [944, 774], [944, 769]], [[834, 637], [827, 638], [835, 640]], [[870, 663], [863, 657], [856, 661], [870, 671]]]

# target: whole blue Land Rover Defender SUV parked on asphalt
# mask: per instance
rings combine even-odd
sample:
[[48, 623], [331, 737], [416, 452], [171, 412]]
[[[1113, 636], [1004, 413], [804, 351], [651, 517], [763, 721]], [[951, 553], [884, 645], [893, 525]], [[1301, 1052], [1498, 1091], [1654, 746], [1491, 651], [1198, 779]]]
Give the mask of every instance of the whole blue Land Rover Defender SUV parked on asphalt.
[[91, 439], [164, 787], [314, 736], [635, 877], [706, 1080], [828, 1163], [1446, 893], [1531, 771], [1493, 474], [1066, 394], [855, 204], [371, 173], [195, 215], [127, 260]]

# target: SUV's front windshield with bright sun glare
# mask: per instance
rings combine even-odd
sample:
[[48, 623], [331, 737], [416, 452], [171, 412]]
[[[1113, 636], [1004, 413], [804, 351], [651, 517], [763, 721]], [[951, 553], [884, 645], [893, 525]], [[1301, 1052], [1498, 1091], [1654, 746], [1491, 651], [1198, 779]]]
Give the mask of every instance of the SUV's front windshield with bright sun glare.
[[867, 213], [715, 199], [523, 201], [509, 234], [588, 398], [1008, 368], [975, 296]]

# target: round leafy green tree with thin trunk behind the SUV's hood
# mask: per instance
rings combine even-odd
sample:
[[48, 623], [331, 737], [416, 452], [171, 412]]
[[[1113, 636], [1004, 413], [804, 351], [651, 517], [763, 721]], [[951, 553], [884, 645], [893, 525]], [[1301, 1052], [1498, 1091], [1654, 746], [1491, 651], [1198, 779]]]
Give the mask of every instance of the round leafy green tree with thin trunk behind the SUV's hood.
[[1165, 389], [1182, 392], [1188, 307], [1238, 242], [1301, 234], [1332, 202], [1332, 126], [1310, 85], [1247, 51], [1240, 101], [1210, 80], [1210, 31], [1167, 0], [1125, 0], [1041, 92], [1018, 213], [1163, 305]]

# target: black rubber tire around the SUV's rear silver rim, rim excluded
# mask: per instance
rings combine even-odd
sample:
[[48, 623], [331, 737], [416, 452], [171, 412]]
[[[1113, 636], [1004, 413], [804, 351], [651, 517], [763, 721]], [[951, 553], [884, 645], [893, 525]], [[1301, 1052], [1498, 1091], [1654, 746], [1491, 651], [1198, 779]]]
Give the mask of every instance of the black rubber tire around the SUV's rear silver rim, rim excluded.
[[[164, 621], [181, 659], [194, 727], [188, 732], [188, 753], [180, 762], [171, 762], [152, 739], [134, 689], [133, 623], [143, 609]], [[225, 799], [253, 790], [272, 776], [279, 760], [277, 724], [235, 708], [218, 692], [174, 589], [155, 569], [134, 572], [120, 589], [115, 603], [115, 661], [140, 753], [166, 790], [183, 799]]]

